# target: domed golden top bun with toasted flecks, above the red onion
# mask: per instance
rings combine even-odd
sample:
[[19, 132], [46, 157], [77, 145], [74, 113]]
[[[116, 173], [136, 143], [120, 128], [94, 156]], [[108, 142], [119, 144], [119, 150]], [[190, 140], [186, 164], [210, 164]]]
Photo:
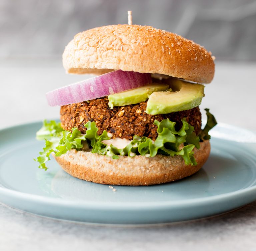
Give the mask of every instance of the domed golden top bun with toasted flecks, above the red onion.
[[197, 83], [214, 76], [211, 53], [177, 34], [140, 25], [109, 25], [75, 35], [63, 53], [67, 73], [159, 73]]

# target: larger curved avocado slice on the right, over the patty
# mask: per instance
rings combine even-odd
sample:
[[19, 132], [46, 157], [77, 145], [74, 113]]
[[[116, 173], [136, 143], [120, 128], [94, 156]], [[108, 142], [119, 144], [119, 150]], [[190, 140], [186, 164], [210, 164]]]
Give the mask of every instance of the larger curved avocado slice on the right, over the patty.
[[204, 86], [192, 84], [178, 79], [170, 81], [173, 92], [158, 91], [150, 95], [146, 113], [166, 114], [192, 109], [199, 106], [204, 97]]

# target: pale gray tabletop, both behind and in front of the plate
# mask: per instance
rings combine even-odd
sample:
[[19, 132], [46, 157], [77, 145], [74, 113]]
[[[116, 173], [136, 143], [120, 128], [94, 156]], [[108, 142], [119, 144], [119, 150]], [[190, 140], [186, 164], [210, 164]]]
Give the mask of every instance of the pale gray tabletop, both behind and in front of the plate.
[[[0, 61], [0, 128], [57, 118], [44, 93], [84, 76], [58, 60]], [[218, 122], [256, 130], [256, 63], [216, 62], [202, 108]], [[0, 250], [256, 250], [256, 202], [221, 216], [155, 227], [95, 226], [31, 215], [0, 202]]]

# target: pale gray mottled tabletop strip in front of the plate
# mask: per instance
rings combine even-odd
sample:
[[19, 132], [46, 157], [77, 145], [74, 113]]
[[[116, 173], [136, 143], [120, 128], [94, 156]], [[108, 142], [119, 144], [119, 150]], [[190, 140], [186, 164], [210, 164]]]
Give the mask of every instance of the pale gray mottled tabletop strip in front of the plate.
[[0, 250], [256, 250], [256, 202], [209, 219], [103, 227], [27, 214], [0, 203]]

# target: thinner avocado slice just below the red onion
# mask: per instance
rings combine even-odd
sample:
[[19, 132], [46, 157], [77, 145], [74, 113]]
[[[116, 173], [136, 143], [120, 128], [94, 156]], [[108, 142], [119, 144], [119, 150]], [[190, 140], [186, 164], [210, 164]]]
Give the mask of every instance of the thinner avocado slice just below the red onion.
[[118, 92], [108, 96], [109, 107], [137, 104], [146, 101], [153, 92], [170, 90], [168, 84], [153, 83], [128, 91]]

